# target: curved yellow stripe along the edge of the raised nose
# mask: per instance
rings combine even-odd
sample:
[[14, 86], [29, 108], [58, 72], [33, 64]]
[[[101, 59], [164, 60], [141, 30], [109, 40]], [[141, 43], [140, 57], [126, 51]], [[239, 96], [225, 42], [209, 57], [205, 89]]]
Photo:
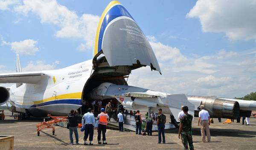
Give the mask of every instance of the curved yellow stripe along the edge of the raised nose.
[[98, 23], [98, 26], [97, 26], [97, 29], [96, 29], [96, 35], [95, 35], [95, 39], [94, 39], [94, 53], [93, 53], [93, 57], [98, 53], [98, 40], [99, 40], [99, 31], [100, 31], [100, 27], [101, 27], [101, 24], [102, 24], [102, 20], [104, 19], [106, 13], [108, 12], [108, 9], [110, 7], [112, 7], [113, 5], [115, 4], [120, 4], [117, 0], [113, 0], [111, 1], [108, 6], [104, 9], [101, 17], [99, 18], [99, 23]]

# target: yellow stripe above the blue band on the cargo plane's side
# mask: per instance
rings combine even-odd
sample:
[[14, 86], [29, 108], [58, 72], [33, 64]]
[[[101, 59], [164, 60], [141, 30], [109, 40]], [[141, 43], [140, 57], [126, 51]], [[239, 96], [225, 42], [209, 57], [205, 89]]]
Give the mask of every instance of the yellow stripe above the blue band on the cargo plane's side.
[[63, 94], [63, 95], [57, 95], [57, 96], [52, 96], [50, 98], [45, 98], [39, 101], [33, 101], [33, 102], [23, 102], [23, 103], [19, 103], [21, 105], [27, 105], [27, 104], [40, 104], [40, 103], [44, 103], [47, 101], [52, 101], [52, 100], [58, 100], [58, 99], [81, 99], [82, 97], [82, 92], [76, 92], [76, 93], [68, 93], [68, 94]]

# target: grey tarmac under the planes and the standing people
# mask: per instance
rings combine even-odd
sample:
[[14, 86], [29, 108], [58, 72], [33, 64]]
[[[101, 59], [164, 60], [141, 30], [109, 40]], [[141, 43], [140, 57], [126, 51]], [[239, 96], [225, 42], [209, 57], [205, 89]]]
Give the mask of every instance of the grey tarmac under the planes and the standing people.
[[[177, 129], [166, 130], [166, 144], [157, 144], [157, 132], [153, 136], [136, 135], [135, 132], [119, 132], [107, 130], [106, 139], [108, 144], [102, 145], [97, 142], [97, 130], [94, 130], [93, 146], [84, 146], [84, 133], [79, 131], [78, 145], [70, 145], [69, 130], [63, 127], [55, 127], [55, 135], [52, 129], [46, 128], [37, 136], [36, 124], [41, 118], [30, 120], [17, 120], [6, 111], [6, 119], [0, 120], [0, 135], [15, 136], [14, 150], [79, 150], [79, 149], [149, 149], [149, 150], [183, 150], [183, 144], [178, 138]], [[255, 150], [256, 148], [256, 118], [251, 116], [250, 126], [241, 123], [222, 124], [218, 118], [214, 118], [210, 125], [211, 142], [202, 142], [200, 128], [197, 126], [198, 118], [192, 124], [193, 143], [195, 150]], [[221, 119], [224, 122], [226, 119]], [[242, 119], [241, 119], [242, 120]], [[75, 136], [73, 135], [74, 141]], [[89, 140], [89, 139], [88, 139]]]

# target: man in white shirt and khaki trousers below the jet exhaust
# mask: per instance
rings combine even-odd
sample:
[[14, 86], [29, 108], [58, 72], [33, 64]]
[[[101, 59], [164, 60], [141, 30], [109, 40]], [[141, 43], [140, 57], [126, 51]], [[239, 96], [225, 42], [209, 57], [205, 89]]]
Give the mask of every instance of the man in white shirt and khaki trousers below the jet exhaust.
[[201, 136], [203, 142], [205, 142], [205, 133], [204, 130], [206, 131], [207, 134], [207, 141], [211, 141], [211, 135], [210, 135], [210, 130], [209, 130], [209, 125], [210, 125], [210, 115], [207, 110], [204, 110], [204, 105], [200, 106], [201, 111], [199, 112], [199, 118], [198, 118], [198, 126], [199, 124], [201, 125]]

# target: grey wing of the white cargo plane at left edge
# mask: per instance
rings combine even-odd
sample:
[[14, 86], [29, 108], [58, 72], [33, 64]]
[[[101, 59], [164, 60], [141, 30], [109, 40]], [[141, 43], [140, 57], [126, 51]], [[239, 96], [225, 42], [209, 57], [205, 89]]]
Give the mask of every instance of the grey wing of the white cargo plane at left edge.
[[36, 84], [41, 80], [42, 72], [15, 72], [0, 74], [0, 83]]

